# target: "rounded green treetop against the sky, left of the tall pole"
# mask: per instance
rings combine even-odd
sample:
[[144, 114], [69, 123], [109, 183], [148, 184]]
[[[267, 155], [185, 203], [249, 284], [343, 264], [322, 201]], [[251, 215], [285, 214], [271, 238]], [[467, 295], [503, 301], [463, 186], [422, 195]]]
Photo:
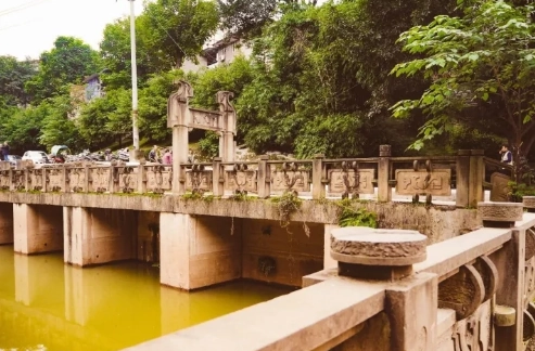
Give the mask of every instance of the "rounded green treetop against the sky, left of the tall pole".
[[54, 48], [41, 54], [38, 74], [25, 88], [37, 102], [67, 92], [68, 84], [100, 70], [99, 53], [73, 37], [59, 37]]

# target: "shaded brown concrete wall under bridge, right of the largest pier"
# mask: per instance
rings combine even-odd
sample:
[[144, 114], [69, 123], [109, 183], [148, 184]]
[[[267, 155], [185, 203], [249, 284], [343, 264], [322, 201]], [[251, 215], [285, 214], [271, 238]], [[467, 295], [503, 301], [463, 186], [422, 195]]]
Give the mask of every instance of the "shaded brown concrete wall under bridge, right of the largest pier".
[[[244, 278], [301, 286], [303, 275], [323, 268], [323, 225], [292, 222], [282, 227], [278, 221], [243, 220], [243, 273]], [[258, 268], [260, 257], [276, 261], [276, 271], [266, 275]]]

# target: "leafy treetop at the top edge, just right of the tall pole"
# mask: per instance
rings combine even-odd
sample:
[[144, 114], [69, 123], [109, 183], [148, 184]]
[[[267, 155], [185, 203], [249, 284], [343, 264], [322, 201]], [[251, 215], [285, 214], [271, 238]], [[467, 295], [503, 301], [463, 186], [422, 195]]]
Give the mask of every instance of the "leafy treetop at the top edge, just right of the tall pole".
[[205, 0], [157, 0], [147, 3], [140, 36], [151, 54], [169, 68], [196, 60], [219, 23], [217, 4]]

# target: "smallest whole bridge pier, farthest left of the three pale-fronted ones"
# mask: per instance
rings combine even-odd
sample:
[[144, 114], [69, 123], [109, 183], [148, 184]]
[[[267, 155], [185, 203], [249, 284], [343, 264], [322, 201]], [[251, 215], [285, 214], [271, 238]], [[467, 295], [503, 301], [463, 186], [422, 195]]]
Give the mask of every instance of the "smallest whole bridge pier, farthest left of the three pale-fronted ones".
[[63, 249], [61, 207], [13, 204], [14, 250], [31, 255]]

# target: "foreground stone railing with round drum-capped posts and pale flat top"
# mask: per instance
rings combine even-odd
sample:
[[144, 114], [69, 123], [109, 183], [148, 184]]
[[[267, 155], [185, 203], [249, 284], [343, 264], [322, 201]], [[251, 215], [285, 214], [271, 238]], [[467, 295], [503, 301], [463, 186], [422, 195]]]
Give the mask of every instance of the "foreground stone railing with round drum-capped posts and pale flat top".
[[535, 214], [522, 204], [479, 211], [493, 227], [428, 247], [413, 231], [335, 229], [337, 268], [303, 289], [128, 350], [524, 350]]

